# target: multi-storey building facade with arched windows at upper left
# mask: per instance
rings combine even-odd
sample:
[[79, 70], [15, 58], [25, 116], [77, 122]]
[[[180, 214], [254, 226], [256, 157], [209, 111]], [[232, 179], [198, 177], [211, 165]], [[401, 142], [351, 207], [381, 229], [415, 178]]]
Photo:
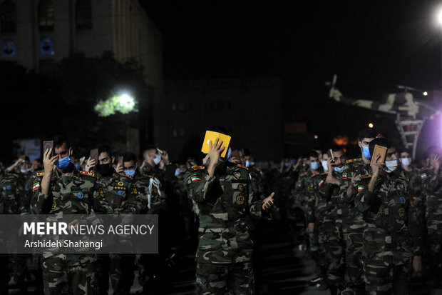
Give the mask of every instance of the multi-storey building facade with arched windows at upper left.
[[[136, 99], [152, 99], [153, 105], [163, 99], [161, 34], [138, 0], [0, 0], [0, 42], [1, 61], [38, 73], [50, 73], [56, 61], [79, 52], [94, 57], [113, 51], [118, 61], [136, 59], [155, 93]], [[154, 138], [159, 132], [155, 126], [143, 129]]]

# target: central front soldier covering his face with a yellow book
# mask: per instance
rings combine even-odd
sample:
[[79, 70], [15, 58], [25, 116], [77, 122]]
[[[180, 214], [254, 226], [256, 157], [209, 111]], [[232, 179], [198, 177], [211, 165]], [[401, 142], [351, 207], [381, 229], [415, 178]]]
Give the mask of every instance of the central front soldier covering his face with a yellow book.
[[[227, 133], [220, 128], [212, 131]], [[256, 199], [247, 169], [227, 162], [228, 156], [220, 159], [222, 141], [209, 146], [208, 164], [193, 166], [185, 174], [200, 218], [198, 294], [255, 294], [247, 218], [261, 217], [272, 206], [273, 194], [264, 201]]]

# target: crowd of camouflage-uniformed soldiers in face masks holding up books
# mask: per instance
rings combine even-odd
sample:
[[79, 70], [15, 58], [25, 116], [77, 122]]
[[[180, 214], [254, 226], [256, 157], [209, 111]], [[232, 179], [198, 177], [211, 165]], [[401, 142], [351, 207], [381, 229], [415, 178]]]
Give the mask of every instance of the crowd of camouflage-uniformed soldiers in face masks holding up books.
[[[142, 159], [126, 152], [123, 161], [100, 146], [97, 162], [78, 156], [64, 134], [51, 140], [54, 151], [42, 159], [22, 156], [0, 167], [1, 213], [159, 214], [160, 254], [43, 254], [33, 273], [32, 257], [1, 254], [9, 261], [1, 269], [1, 294], [8, 293], [10, 274], [22, 294], [31, 281], [41, 283], [37, 293], [108, 294], [109, 279], [114, 294], [129, 294], [135, 272], [145, 294], [160, 294], [170, 254], [180, 249], [197, 251], [200, 294], [254, 294], [259, 239], [250, 233], [259, 231], [257, 218], [304, 222], [299, 249], [316, 263], [311, 283], [331, 294], [408, 294], [413, 279], [433, 288], [441, 280], [440, 146], [417, 164], [408, 149], [363, 129], [355, 159], [331, 146], [261, 163], [260, 170], [250, 149], [231, 146], [222, 158], [219, 142], [202, 161], [177, 165], [155, 146]], [[376, 145], [387, 149], [383, 164], [371, 164]], [[180, 234], [166, 236], [172, 227]]]

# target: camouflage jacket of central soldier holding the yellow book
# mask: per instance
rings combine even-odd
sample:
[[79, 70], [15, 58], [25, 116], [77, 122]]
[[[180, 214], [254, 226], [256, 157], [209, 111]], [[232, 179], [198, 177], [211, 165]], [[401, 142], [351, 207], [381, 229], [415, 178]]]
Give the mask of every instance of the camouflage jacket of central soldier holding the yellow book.
[[253, 244], [247, 218], [262, 216], [262, 201], [253, 195], [247, 168], [227, 162], [224, 171], [210, 177], [206, 166], [193, 166], [185, 179], [200, 218], [197, 263], [250, 261]]

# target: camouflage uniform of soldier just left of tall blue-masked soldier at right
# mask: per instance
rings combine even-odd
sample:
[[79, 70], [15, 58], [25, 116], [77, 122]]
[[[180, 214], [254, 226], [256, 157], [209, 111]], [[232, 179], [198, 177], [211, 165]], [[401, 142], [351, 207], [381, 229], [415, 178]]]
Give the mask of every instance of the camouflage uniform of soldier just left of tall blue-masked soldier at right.
[[[342, 178], [342, 175], [336, 171], [332, 172], [332, 176], [336, 179]], [[326, 206], [322, 217], [326, 281], [329, 285], [341, 285], [344, 279], [345, 265], [339, 186], [324, 181], [319, 186], [319, 200], [319, 204], [325, 203]]]

